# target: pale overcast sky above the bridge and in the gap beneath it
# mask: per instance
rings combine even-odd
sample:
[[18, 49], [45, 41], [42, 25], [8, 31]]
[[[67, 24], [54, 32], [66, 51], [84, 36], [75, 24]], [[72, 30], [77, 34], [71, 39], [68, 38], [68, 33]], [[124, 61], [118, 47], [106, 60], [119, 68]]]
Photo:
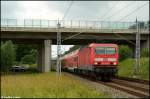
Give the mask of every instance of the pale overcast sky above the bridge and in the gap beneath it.
[[[149, 20], [149, 1], [1, 1], [1, 18], [62, 20], [67, 9], [64, 20]], [[62, 46], [62, 52], [71, 46]], [[57, 46], [52, 45], [53, 57], [56, 49]]]

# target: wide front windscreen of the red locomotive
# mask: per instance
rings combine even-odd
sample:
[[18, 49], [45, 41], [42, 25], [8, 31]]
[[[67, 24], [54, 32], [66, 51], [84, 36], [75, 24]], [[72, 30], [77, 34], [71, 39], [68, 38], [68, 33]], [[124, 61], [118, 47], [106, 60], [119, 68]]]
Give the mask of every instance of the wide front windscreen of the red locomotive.
[[113, 47], [97, 47], [95, 48], [96, 54], [115, 54], [116, 50]]

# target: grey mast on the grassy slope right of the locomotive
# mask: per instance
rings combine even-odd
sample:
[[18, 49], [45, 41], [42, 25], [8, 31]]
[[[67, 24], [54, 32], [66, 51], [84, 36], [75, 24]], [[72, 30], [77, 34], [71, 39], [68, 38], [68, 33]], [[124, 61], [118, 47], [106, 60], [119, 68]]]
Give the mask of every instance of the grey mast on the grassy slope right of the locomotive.
[[135, 51], [135, 72], [134, 74], [137, 75], [137, 73], [139, 73], [139, 67], [140, 67], [140, 26], [139, 23], [136, 19], [136, 51]]

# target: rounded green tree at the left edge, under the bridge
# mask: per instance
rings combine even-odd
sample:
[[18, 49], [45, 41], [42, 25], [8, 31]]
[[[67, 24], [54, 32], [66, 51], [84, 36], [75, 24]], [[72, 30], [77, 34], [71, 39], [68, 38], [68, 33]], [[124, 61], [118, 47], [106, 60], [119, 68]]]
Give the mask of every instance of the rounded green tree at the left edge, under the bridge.
[[15, 45], [12, 41], [1, 42], [1, 71], [8, 72], [16, 58]]

